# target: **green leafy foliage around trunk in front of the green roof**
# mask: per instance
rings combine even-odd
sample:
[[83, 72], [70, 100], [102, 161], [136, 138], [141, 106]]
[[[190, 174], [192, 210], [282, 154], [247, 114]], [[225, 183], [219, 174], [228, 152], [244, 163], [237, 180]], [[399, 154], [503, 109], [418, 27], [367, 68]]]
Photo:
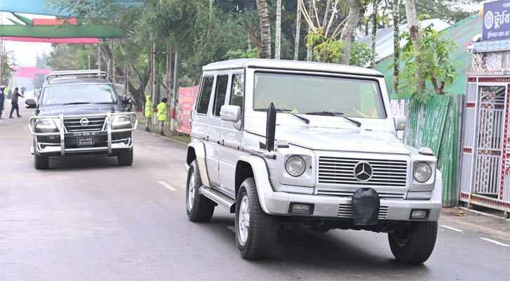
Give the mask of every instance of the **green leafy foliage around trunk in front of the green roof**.
[[[407, 40], [398, 61], [404, 63], [399, 77], [402, 81], [399, 86], [402, 89], [401, 95], [409, 95], [419, 103], [426, 103], [433, 93], [446, 94], [445, 87], [450, 86], [457, 77], [455, 65], [450, 60], [450, 53], [457, 45], [449, 39], [441, 38], [440, 34], [432, 29], [432, 25], [420, 30], [419, 51], [414, 50], [409, 32], [402, 33], [400, 39]], [[421, 64], [416, 62], [416, 58], [421, 58]], [[416, 91], [416, 84], [421, 79], [431, 82], [433, 91]]]

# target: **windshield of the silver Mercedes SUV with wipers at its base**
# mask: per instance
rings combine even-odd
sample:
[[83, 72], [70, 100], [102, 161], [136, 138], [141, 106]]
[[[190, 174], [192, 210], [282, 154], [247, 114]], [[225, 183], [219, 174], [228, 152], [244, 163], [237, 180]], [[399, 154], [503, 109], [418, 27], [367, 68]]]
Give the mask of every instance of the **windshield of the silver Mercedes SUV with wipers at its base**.
[[336, 112], [345, 117], [385, 119], [376, 81], [307, 74], [255, 72], [253, 109], [267, 111], [269, 103], [281, 112]]

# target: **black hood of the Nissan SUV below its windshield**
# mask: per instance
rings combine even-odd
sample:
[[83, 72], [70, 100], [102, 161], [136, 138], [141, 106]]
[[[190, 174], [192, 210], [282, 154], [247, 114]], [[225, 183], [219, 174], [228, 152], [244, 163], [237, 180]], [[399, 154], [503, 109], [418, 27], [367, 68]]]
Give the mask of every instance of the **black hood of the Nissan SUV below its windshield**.
[[39, 108], [38, 116], [51, 115], [92, 115], [101, 113], [124, 112], [120, 105], [56, 105]]

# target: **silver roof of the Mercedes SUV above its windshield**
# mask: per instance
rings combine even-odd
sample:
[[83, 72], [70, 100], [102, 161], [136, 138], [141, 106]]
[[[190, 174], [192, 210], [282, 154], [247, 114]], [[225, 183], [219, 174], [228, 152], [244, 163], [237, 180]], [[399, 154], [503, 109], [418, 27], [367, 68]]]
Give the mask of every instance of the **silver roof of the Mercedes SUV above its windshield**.
[[314, 72], [332, 72], [343, 74], [357, 74], [372, 77], [384, 77], [381, 72], [369, 68], [353, 65], [340, 65], [338, 63], [315, 63], [301, 60], [272, 60], [262, 58], [241, 58], [210, 63], [202, 67], [203, 71], [229, 70], [236, 68], [253, 67], [279, 70], [308, 70]]

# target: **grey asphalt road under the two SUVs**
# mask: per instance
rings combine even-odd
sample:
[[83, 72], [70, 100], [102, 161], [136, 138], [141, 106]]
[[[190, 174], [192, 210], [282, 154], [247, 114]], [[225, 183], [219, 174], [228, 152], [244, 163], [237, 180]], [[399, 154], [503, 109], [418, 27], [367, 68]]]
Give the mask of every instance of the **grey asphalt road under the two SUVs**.
[[420, 266], [395, 261], [385, 234], [355, 230], [281, 233], [271, 259], [245, 261], [233, 214], [217, 207], [208, 223], [188, 220], [186, 145], [136, 131], [133, 166], [73, 157], [36, 171], [31, 112], [22, 115], [0, 120], [0, 280], [510, 278], [510, 222], [457, 210], [442, 216]]

